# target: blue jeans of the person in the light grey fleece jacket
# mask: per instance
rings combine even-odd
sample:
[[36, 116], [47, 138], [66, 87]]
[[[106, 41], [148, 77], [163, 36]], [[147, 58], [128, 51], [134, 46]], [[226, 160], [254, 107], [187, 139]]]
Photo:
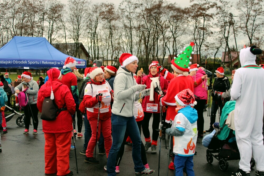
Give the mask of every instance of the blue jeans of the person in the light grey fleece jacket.
[[125, 132], [128, 133], [132, 140], [132, 158], [134, 161], [135, 172], [141, 172], [145, 169], [141, 160], [141, 137], [139, 134], [138, 125], [136, 123], [135, 117], [124, 117], [118, 116], [112, 113], [112, 135], [113, 142], [111, 149], [109, 151], [107, 159], [107, 173], [109, 176], [116, 175], [115, 172], [115, 161], [117, 153], [123, 142]]

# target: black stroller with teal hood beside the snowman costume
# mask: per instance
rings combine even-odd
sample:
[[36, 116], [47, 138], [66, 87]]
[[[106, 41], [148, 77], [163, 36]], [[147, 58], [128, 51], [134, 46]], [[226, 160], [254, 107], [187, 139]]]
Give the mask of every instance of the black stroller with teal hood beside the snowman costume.
[[[227, 161], [240, 159], [234, 131], [225, 124], [228, 114], [234, 110], [234, 106], [235, 101], [230, 101], [223, 107], [220, 123], [218, 127], [214, 126], [216, 132], [206, 150], [207, 162], [212, 163], [213, 158], [217, 159], [219, 161], [219, 169], [222, 171], [228, 169]], [[251, 168], [255, 166], [254, 158], [251, 158], [250, 166]]]

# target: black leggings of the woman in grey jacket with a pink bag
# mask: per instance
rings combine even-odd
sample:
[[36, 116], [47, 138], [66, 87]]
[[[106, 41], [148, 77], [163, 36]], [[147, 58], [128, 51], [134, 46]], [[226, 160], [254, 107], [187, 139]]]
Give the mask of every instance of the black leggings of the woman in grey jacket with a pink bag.
[[37, 126], [39, 125], [39, 119], [37, 118], [37, 113], [39, 110], [37, 109], [37, 103], [35, 104], [30, 104], [27, 103], [27, 106], [24, 107], [24, 114], [25, 114], [25, 129], [29, 129], [30, 125], [30, 118], [34, 119], [33, 122], [33, 127], [35, 130], [37, 130]]

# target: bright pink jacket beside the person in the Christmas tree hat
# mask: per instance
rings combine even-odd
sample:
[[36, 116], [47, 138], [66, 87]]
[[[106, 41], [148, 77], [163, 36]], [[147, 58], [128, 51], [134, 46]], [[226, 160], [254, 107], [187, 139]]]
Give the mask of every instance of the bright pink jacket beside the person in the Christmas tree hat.
[[[198, 80], [205, 75], [204, 70], [199, 69], [196, 72], [195, 76], [192, 76], [194, 81], [198, 82]], [[202, 83], [197, 85], [197, 87], [194, 87], [194, 95], [199, 97], [200, 99], [206, 99], [207, 100], [207, 90], [206, 90], [206, 81], [202, 80]], [[204, 85], [204, 87], [202, 87]]]

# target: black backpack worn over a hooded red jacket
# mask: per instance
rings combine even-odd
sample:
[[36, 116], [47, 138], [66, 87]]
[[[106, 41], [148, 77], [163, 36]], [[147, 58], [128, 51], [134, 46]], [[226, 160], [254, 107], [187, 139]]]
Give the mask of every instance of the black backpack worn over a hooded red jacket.
[[47, 121], [56, 120], [56, 117], [60, 112], [67, 110], [67, 107], [64, 106], [61, 109], [58, 109], [54, 99], [52, 100], [50, 97], [45, 97], [42, 104], [42, 113], [40, 118]]

